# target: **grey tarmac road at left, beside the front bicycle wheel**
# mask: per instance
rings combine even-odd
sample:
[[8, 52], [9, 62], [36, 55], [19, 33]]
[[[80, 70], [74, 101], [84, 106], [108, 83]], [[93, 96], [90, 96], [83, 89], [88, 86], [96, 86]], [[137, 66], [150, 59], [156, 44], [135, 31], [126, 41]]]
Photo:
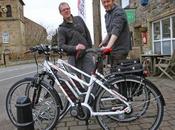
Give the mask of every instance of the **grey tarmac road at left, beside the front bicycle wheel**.
[[0, 130], [14, 130], [6, 110], [5, 99], [9, 88], [18, 80], [32, 76], [36, 72], [35, 64], [24, 64], [0, 68]]

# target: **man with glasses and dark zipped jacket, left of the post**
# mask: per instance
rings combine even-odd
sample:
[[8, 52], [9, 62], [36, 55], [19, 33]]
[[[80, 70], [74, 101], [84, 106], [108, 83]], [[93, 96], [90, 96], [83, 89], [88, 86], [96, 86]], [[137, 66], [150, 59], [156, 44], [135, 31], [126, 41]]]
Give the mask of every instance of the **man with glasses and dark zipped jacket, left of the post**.
[[66, 2], [60, 3], [59, 12], [63, 16], [63, 23], [58, 28], [60, 48], [68, 54], [68, 63], [91, 74], [94, 69], [92, 54], [84, 53], [85, 49], [92, 47], [86, 24], [81, 17], [71, 14], [70, 6]]

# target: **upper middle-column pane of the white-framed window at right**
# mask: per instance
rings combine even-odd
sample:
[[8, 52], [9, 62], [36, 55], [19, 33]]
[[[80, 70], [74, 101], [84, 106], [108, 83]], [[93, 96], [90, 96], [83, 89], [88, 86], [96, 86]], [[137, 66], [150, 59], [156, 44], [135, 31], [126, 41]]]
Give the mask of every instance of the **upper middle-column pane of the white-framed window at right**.
[[170, 19], [162, 20], [163, 38], [170, 38]]

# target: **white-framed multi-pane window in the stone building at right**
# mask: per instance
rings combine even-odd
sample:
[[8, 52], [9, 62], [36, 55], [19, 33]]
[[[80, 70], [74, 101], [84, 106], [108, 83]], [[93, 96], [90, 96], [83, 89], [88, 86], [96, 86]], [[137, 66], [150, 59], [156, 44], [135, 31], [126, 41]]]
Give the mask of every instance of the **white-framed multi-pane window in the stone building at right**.
[[172, 54], [175, 49], [175, 16], [156, 21], [152, 26], [153, 52]]

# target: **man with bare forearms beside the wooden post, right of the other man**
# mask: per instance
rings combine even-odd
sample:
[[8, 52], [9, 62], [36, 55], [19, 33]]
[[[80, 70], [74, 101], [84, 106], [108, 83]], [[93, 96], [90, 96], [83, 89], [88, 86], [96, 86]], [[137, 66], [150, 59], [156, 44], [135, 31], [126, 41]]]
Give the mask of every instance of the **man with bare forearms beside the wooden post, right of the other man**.
[[105, 24], [107, 35], [100, 43], [102, 48], [112, 48], [111, 66], [126, 59], [131, 49], [130, 31], [125, 11], [115, 4], [115, 0], [101, 0], [106, 10]]

